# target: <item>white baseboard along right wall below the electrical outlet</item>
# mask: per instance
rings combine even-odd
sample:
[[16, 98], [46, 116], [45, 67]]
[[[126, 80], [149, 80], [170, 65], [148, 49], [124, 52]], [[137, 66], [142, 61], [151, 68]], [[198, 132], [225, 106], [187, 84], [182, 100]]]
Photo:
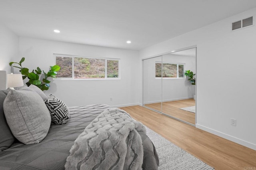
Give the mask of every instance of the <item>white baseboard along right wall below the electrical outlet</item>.
[[212, 129], [212, 128], [208, 128], [208, 127], [205, 127], [205, 126], [202, 126], [202, 125], [196, 124], [196, 128], [200, 128], [200, 129], [202, 129], [202, 130], [204, 130], [204, 131], [206, 131], [206, 132], [215, 134], [215, 135], [220, 136], [220, 137], [222, 137], [222, 138], [228, 139], [228, 140], [230, 140], [230, 141], [232, 141], [232, 142], [236, 142], [236, 143], [238, 143], [238, 144], [241, 144], [241, 145], [243, 145], [243, 146], [246, 146], [246, 147], [248, 147], [248, 148], [251, 148], [251, 149], [253, 149], [253, 150], [256, 150], [256, 144], [247, 142], [247, 141], [245, 141], [245, 140], [236, 138], [236, 137], [234, 137], [234, 136], [230, 136], [230, 135], [228, 135], [228, 134], [219, 132], [219, 131], [217, 131], [217, 130], [214, 130], [214, 129]]

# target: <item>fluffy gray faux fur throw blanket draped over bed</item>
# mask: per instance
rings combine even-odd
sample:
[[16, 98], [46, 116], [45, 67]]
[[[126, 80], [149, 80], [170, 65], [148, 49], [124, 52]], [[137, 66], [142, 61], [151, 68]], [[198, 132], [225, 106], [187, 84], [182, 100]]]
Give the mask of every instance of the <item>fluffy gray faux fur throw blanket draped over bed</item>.
[[121, 109], [96, 117], [75, 140], [66, 170], [141, 170], [144, 125]]

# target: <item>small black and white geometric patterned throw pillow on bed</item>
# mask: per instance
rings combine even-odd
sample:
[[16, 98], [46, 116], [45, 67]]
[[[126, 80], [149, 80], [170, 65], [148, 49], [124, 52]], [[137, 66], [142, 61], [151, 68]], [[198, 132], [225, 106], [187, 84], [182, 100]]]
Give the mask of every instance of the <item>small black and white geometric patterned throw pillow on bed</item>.
[[57, 125], [64, 125], [69, 119], [69, 110], [66, 104], [55, 97], [50, 95], [44, 102], [50, 111], [52, 122]]

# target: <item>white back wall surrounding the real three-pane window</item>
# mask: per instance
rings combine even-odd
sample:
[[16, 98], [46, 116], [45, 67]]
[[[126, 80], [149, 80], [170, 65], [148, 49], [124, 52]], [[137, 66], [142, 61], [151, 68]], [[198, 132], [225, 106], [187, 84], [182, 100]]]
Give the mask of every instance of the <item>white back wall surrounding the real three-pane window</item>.
[[[55, 64], [53, 54], [120, 58], [118, 80], [61, 80], [54, 79], [47, 95], [53, 94], [69, 107], [104, 103], [111, 106], [138, 104], [138, 51], [82, 45], [76, 43], [20, 38], [20, 58], [25, 57], [24, 66], [49, 70]], [[113, 98], [110, 101], [110, 97]]]

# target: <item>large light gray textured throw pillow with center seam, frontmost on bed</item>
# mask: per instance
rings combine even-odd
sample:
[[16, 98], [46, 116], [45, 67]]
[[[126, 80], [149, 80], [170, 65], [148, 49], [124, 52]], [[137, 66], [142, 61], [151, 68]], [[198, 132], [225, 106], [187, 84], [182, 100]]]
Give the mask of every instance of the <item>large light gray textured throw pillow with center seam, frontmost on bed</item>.
[[4, 115], [12, 134], [24, 144], [39, 143], [51, 124], [49, 111], [35, 91], [11, 90], [4, 100]]

